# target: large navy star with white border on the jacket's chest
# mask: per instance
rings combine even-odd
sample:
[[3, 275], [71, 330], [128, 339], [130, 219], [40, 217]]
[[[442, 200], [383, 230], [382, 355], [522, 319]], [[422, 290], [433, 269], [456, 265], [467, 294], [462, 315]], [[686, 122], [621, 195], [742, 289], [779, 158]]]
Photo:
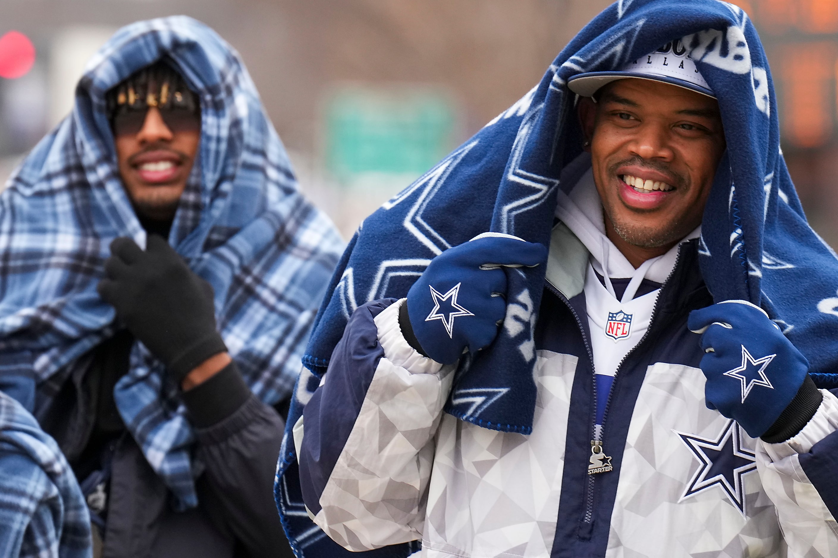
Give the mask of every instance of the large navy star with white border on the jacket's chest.
[[742, 477], [757, 470], [757, 457], [742, 447], [742, 429], [728, 420], [716, 439], [702, 438], [674, 431], [698, 459], [700, 466], [687, 483], [679, 502], [717, 486], [740, 514], [745, 514], [745, 489]]

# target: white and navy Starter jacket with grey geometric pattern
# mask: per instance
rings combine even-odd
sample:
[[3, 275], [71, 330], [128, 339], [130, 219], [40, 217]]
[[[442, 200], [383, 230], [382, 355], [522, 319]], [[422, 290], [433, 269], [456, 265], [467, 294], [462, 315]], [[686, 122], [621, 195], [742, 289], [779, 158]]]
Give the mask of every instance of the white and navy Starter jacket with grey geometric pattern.
[[809, 424], [779, 444], [706, 407], [686, 327], [712, 303], [699, 242], [680, 245], [618, 368], [603, 421], [610, 459], [593, 474], [589, 254], [565, 225], [551, 235], [535, 327], [530, 435], [444, 413], [456, 366], [407, 344], [404, 299], [359, 307], [293, 428], [308, 514], [348, 550], [421, 540], [428, 558], [838, 554], [838, 399], [823, 390]]

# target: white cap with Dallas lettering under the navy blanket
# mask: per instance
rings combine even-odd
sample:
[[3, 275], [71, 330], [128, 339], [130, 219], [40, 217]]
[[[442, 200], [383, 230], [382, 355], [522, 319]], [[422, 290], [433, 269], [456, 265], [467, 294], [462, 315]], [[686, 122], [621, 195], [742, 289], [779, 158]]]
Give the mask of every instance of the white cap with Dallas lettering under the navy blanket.
[[667, 43], [653, 53], [633, 60], [618, 71], [574, 75], [567, 80], [567, 87], [577, 95], [592, 97], [603, 85], [628, 78], [662, 81], [716, 98], [716, 94], [710, 89], [710, 85], [707, 85], [680, 40]]

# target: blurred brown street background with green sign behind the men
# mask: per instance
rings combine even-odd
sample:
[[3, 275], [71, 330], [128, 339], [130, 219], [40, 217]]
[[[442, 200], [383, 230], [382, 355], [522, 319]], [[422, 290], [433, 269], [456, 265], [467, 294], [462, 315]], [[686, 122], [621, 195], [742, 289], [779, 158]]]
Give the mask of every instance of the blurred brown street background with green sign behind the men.
[[[783, 150], [838, 246], [838, 0], [742, 0], [768, 50]], [[0, 183], [69, 111], [86, 60], [185, 13], [241, 53], [303, 190], [349, 238], [510, 106], [603, 0], [0, 0]]]

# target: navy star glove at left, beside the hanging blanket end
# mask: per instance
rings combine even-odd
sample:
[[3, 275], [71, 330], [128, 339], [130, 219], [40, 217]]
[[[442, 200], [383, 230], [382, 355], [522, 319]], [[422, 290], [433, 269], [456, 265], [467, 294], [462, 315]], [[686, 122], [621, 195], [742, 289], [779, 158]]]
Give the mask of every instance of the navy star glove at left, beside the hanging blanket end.
[[[534, 267], [547, 259], [544, 245], [484, 233], [435, 257], [407, 292], [400, 317], [408, 343], [442, 364], [468, 348], [483, 349], [498, 334], [506, 313], [502, 267]], [[405, 323], [408, 322], [408, 323]], [[411, 330], [411, 331], [410, 331]]]

